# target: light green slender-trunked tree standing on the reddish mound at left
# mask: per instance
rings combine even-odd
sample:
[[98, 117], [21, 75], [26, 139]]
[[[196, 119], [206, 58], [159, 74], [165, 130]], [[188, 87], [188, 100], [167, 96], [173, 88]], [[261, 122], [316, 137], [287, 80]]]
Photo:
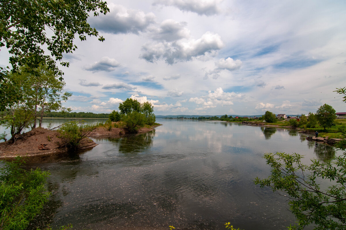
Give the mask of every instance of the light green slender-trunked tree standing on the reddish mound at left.
[[65, 82], [58, 80], [47, 66], [40, 66], [37, 71], [39, 74], [33, 75], [27, 72], [27, 66], [22, 66], [18, 72], [7, 75], [9, 81], [4, 87], [9, 85], [10, 89], [15, 88], [21, 95], [6, 107], [1, 118], [1, 122], [10, 128], [12, 138], [32, 124], [32, 128], [35, 128], [37, 119], [41, 127], [45, 112], [66, 109], [62, 107], [62, 102], [72, 95], [62, 92]]

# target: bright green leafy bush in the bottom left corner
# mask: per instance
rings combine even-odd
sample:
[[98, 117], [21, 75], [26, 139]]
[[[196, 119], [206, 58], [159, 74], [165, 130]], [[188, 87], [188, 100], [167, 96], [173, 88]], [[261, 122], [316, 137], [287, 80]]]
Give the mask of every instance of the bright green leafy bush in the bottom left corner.
[[19, 157], [0, 168], [0, 229], [25, 229], [50, 195], [45, 183], [49, 172], [22, 168]]

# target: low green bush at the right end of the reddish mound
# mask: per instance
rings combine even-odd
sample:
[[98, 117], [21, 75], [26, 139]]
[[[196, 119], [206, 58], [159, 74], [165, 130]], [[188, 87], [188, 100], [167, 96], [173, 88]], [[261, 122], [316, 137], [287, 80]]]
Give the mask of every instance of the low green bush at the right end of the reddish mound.
[[95, 125], [83, 125], [83, 121], [71, 121], [60, 126], [60, 138], [63, 146], [69, 149], [78, 149], [80, 142], [96, 128]]

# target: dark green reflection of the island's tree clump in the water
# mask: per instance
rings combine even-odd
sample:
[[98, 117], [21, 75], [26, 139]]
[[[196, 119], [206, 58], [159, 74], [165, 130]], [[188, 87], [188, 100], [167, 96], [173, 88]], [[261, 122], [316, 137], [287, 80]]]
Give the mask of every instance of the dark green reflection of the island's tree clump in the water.
[[118, 144], [120, 153], [140, 153], [152, 146], [154, 136], [155, 130], [140, 135], [109, 138], [109, 140]]

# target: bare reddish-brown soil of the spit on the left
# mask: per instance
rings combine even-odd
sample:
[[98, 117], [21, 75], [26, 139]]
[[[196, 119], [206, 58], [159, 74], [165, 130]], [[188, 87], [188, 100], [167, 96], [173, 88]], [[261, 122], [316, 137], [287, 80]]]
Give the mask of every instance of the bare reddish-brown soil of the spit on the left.
[[[141, 128], [138, 134], [148, 132], [154, 129]], [[112, 128], [110, 131], [106, 128], [97, 128], [89, 136], [117, 136], [121, 137], [126, 134], [124, 128]], [[13, 158], [16, 156], [43, 156], [64, 153], [68, 149], [61, 147], [62, 140], [59, 138], [59, 133], [56, 130], [44, 128], [35, 128], [16, 138], [13, 144], [7, 142], [0, 143], [0, 159]], [[92, 148], [97, 144], [89, 139], [82, 140], [79, 149]], [[46, 149], [46, 150], [45, 150]]]

